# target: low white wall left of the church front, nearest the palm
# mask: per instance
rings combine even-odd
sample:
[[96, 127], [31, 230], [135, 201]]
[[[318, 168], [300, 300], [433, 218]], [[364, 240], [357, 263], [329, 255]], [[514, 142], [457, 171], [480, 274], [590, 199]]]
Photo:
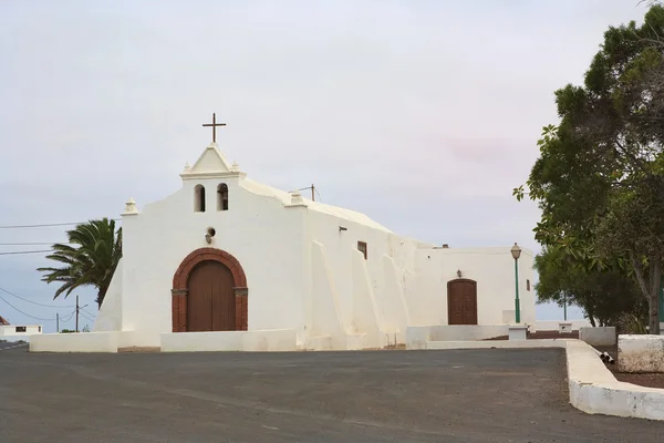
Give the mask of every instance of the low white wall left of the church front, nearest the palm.
[[30, 352], [117, 352], [117, 332], [35, 334]]

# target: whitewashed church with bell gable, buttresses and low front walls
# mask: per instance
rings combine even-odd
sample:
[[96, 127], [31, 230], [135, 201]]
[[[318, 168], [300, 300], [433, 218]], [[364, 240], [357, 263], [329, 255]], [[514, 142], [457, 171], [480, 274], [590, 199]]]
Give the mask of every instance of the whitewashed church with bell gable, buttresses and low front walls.
[[517, 280], [511, 245], [400, 236], [248, 178], [215, 142], [180, 177], [162, 200], [126, 203], [123, 257], [93, 332], [44, 334], [33, 351], [383, 348], [408, 327], [515, 323], [516, 285], [520, 323], [535, 322], [529, 250]]

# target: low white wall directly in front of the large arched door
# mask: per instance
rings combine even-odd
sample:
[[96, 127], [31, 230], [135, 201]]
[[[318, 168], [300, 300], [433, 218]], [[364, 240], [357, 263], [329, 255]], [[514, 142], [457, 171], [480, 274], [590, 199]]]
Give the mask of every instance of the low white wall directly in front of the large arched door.
[[162, 333], [162, 352], [294, 351], [294, 329]]

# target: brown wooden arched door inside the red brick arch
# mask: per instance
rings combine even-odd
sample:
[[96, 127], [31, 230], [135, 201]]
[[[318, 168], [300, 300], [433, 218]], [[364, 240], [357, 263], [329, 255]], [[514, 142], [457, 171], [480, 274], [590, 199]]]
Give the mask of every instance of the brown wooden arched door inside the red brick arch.
[[234, 278], [224, 264], [205, 260], [196, 265], [187, 289], [187, 331], [236, 329]]

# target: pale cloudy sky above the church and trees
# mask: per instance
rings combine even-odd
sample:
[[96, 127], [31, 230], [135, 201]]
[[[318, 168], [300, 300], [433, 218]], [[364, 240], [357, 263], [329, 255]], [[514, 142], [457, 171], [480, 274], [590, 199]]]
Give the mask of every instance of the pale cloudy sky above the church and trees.
[[[610, 24], [642, 21], [637, 3], [2, 1], [0, 226], [118, 218], [129, 196], [172, 194], [216, 112], [221, 150], [258, 182], [313, 183], [323, 203], [419, 240], [538, 253], [537, 205], [511, 190], [558, 122], [553, 92], [582, 82]], [[0, 229], [0, 243], [66, 228]], [[61, 308], [0, 297], [69, 315], [73, 297], [53, 301], [35, 271], [46, 264], [0, 255], [0, 288]], [[94, 315], [93, 291], [77, 293]], [[38, 322], [2, 300], [0, 315]]]

